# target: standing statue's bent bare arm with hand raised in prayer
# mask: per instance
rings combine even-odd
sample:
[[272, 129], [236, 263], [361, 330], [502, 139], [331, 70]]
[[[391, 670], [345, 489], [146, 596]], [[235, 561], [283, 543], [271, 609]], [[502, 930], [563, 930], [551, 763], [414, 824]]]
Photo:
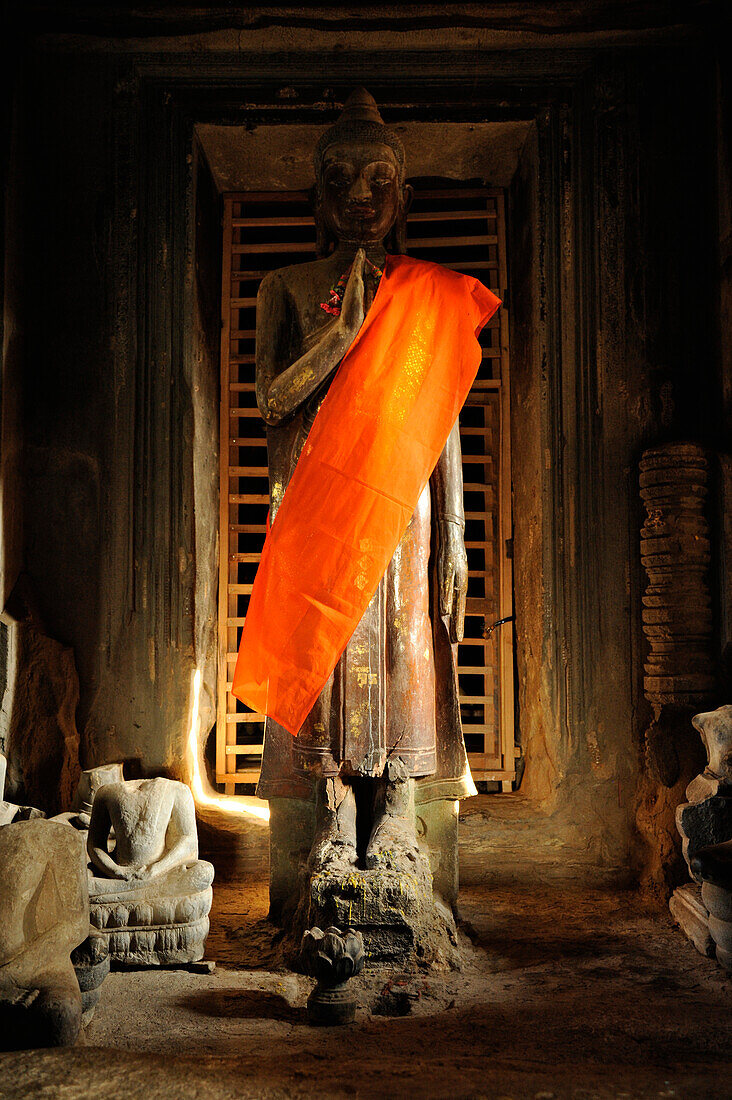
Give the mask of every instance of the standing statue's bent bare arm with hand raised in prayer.
[[292, 364], [283, 363], [288, 332], [286, 292], [276, 272], [262, 279], [256, 296], [256, 404], [269, 425], [292, 416], [332, 374], [363, 322], [363, 263], [359, 252], [343, 295], [341, 314], [321, 338]]

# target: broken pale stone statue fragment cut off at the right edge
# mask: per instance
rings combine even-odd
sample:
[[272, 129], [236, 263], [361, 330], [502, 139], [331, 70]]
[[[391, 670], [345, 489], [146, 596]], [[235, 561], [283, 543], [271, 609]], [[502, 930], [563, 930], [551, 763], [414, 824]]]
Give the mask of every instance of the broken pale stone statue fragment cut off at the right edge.
[[687, 787], [676, 823], [695, 882], [675, 890], [669, 908], [697, 949], [732, 970], [732, 706], [692, 723], [707, 767]]

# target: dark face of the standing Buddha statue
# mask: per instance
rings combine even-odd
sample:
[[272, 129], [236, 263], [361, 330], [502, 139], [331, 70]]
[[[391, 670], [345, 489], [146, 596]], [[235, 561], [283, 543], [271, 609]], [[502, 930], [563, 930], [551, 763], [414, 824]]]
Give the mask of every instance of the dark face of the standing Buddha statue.
[[319, 215], [326, 231], [347, 244], [378, 244], [404, 205], [396, 157], [378, 141], [343, 140], [323, 156]]

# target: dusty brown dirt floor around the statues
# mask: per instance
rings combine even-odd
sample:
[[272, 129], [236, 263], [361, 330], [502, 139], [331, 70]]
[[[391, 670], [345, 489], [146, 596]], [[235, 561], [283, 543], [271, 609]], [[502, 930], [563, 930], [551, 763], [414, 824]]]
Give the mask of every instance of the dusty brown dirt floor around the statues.
[[[364, 972], [356, 1023], [314, 1030], [312, 981], [275, 967], [265, 883], [219, 886], [212, 974], [111, 974], [83, 1045], [1, 1056], [0, 1096], [732, 1097], [732, 979], [633, 892], [572, 884], [569, 837], [564, 875], [542, 844], [496, 851], [494, 805], [462, 821], [460, 972]], [[536, 822], [506, 814], [521, 847]]]

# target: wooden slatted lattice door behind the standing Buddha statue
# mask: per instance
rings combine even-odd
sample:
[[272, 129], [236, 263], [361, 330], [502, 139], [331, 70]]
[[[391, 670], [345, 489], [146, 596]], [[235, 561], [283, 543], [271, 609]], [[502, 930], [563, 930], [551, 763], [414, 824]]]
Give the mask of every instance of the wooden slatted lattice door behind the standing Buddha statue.
[[[505, 297], [503, 193], [418, 189], [408, 252], [474, 275]], [[264, 542], [266, 438], [254, 395], [256, 290], [263, 275], [315, 258], [315, 227], [301, 191], [223, 197], [220, 418], [219, 661], [216, 782], [233, 794], [259, 777], [264, 718], [231, 694], [241, 626]], [[460, 416], [469, 587], [458, 648], [460, 707], [473, 777], [510, 788], [513, 741], [509, 324], [501, 309], [482, 336], [483, 361]]]

